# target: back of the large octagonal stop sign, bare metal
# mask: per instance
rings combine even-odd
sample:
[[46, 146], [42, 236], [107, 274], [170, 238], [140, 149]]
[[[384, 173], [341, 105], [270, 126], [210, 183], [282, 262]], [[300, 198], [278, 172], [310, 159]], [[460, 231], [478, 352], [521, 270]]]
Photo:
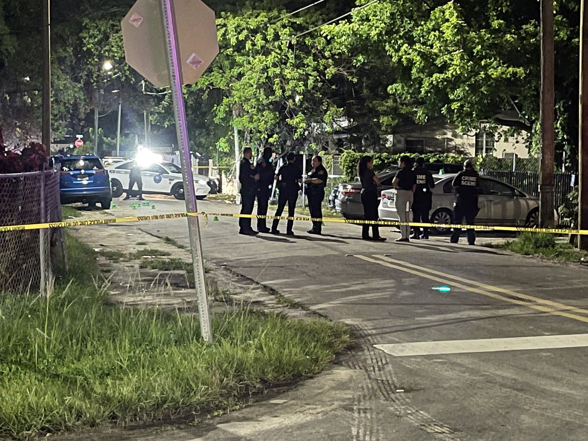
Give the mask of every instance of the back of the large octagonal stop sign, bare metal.
[[[173, 0], [182, 83], [192, 84], [219, 53], [215, 12], [201, 0]], [[169, 86], [161, 0], [137, 0], [121, 22], [126, 62], [156, 87]]]

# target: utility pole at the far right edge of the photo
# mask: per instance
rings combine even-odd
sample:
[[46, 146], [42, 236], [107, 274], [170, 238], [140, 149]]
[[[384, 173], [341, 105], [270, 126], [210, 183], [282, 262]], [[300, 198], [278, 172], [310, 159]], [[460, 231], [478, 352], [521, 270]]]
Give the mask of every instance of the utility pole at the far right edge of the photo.
[[[580, 2], [580, 133], [579, 133], [579, 229], [588, 229], [588, 8]], [[578, 236], [578, 248], [588, 249], [588, 236]]]

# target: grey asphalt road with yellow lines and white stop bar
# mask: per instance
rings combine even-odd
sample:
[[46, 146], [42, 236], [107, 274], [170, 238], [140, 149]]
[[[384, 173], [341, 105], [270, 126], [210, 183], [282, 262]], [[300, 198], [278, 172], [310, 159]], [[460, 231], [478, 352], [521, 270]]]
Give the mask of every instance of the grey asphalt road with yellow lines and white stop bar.
[[[117, 209], [133, 212], [122, 202]], [[222, 202], [198, 209], [238, 212]], [[183, 210], [166, 199], [144, 214]], [[372, 243], [358, 226], [337, 223], [310, 236], [310, 222], [295, 222], [295, 238], [238, 235], [235, 218], [201, 226], [206, 259], [356, 333], [344, 364], [365, 375], [351, 387], [349, 412], [325, 410], [327, 433], [306, 439], [586, 439], [588, 268], [465, 238], [395, 243], [387, 228], [389, 241]], [[140, 228], [189, 243], [185, 219]], [[451, 291], [432, 289], [440, 285]]]

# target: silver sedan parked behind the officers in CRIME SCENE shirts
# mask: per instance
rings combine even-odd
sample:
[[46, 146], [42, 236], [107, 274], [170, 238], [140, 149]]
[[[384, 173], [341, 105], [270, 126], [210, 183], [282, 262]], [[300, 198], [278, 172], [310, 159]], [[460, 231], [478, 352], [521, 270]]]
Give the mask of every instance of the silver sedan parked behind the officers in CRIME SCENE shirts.
[[[433, 175], [433, 206], [431, 223], [452, 223], [453, 192], [452, 175]], [[489, 226], [537, 226], [539, 220], [539, 199], [527, 195], [519, 189], [498, 179], [480, 176], [480, 195], [476, 216], [476, 225]], [[395, 207], [396, 190], [382, 191], [378, 214], [382, 220], [398, 220]], [[437, 228], [437, 233], [449, 232], [446, 228]]]

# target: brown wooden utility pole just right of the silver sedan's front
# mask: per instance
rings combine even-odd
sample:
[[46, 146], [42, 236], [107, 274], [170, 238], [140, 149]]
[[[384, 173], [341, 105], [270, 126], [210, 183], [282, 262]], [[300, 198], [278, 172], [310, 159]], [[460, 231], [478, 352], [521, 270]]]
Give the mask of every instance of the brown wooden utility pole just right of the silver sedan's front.
[[554, 49], [553, 0], [541, 0], [541, 163], [539, 225], [550, 228], [553, 218], [554, 167]]

